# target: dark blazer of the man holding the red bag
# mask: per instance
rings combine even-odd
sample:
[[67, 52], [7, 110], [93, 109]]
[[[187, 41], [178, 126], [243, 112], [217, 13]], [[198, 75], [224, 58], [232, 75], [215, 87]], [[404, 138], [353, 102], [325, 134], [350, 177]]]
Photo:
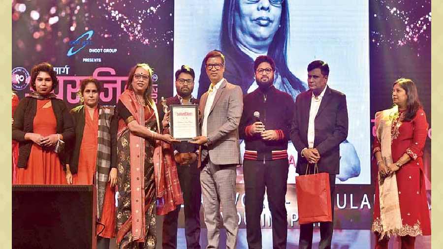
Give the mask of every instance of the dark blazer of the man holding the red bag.
[[[298, 152], [296, 172], [304, 175], [308, 161], [300, 155], [308, 148], [309, 111], [312, 91], [300, 93], [295, 99], [290, 138]], [[315, 119], [314, 148], [320, 153], [319, 172], [340, 173], [340, 143], [348, 137], [346, 95], [326, 86]]]

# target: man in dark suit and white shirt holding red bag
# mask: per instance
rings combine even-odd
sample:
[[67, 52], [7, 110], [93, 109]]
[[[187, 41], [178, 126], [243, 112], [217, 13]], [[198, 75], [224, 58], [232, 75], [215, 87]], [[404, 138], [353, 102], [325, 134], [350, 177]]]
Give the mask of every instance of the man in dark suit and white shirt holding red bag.
[[[329, 88], [326, 83], [329, 66], [322, 61], [308, 65], [309, 91], [295, 99], [295, 112], [290, 138], [300, 155], [296, 172], [306, 174], [308, 164], [311, 173], [314, 163], [318, 172], [329, 173], [331, 188], [332, 220], [334, 220], [335, 176], [340, 171], [340, 143], [348, 136], [348, 109], [346, 95]], [[299, 248], [311, 249], [313, 224], [300, 225]], [[319, 249], [330, 249], [334, 222], [320, 222]]]

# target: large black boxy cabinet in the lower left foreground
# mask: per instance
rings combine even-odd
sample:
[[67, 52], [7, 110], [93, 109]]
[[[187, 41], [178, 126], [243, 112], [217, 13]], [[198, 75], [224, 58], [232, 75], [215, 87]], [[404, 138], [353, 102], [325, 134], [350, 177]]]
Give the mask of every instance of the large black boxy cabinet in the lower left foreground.
[[13, 185], [12, 248], [95, 249], [95, 195], [86, 185]]

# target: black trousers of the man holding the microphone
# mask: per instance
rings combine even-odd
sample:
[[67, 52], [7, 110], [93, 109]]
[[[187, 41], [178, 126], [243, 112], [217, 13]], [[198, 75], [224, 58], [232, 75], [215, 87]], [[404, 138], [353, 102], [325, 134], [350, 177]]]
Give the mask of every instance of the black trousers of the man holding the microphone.
[[289, 163], [287, 159], [244, 160], [246, 238], [250, 249], [261, 249], [260, 216], [266, 188], [272, 222], [274, 249], [285, 249], [287, 217], [285, 207], [286, 182]]

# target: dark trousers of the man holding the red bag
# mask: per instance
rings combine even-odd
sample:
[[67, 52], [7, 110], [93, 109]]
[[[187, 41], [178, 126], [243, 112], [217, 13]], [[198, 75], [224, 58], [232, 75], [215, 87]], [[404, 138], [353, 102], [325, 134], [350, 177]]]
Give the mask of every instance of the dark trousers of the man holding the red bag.
[[[335, 204], [335, 175], [329, 174], [329, 186], [331, 187], [331, 208], [332, 220], [334, 220], [334, 204]], [[314, 231], [314, 224], [300, 225], [300, 240], [298, 248], [311, 249], [312, 248], [312, 234]], [[334, 231], [334, 222], [320, 222], [320, 243], [318, 249], [330, 249], [332, 242], [332, 232]]]

